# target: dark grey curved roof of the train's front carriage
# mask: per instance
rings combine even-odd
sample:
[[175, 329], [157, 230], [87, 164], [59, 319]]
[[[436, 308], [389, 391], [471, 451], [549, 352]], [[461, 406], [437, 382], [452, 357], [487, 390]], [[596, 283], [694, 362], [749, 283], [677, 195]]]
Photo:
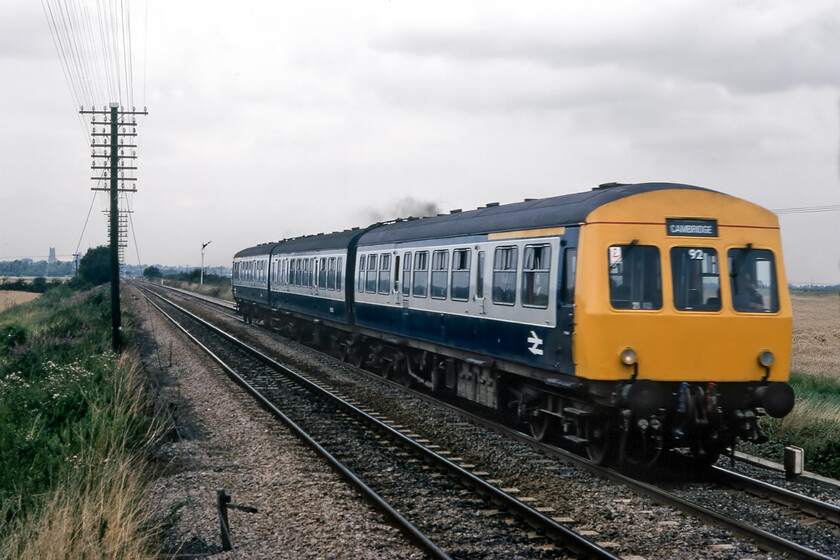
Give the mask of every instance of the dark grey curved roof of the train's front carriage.
[[385, 224], [366, 232], [359, 245], [579, 224], [586, 221], [586, 217], [593, 210], [610, 202], [636, 194], [672, 189], [709, 190], [679, 183], [609, 183], [582, 193], [526, 200], [502, 206], [488, 205], [467, 212]]

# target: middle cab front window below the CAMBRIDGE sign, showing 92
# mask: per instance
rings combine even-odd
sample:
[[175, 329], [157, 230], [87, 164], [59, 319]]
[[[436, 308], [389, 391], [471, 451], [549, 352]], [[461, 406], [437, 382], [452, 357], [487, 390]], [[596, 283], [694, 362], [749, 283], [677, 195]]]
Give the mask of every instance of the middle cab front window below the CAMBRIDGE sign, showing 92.
[[720, 311], [720, 270], [714, 249], [672, 248], [671, 279], [676, 309]]

